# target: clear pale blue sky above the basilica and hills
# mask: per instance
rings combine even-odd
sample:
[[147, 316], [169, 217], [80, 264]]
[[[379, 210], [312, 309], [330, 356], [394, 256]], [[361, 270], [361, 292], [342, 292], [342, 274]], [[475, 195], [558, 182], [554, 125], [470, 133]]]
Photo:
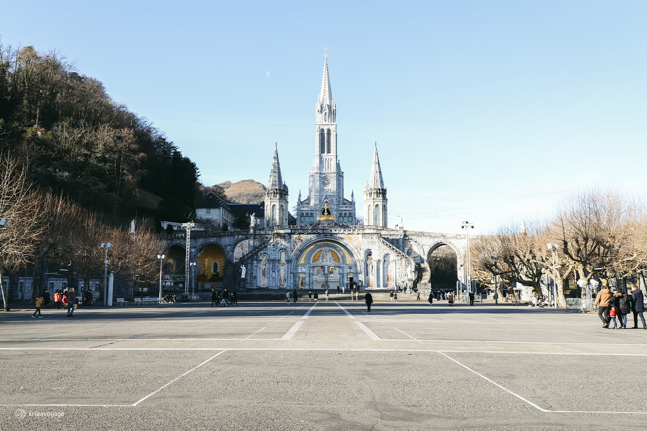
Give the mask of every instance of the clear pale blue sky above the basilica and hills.
[[6, 2], [5, 45], [56, 49], [190, 156], [205, 184], [307, 194], [323, 47], [347, 194], [377, 133], [389, 225], [474, 232], [569, 191], [644, 192], [647, 2]]

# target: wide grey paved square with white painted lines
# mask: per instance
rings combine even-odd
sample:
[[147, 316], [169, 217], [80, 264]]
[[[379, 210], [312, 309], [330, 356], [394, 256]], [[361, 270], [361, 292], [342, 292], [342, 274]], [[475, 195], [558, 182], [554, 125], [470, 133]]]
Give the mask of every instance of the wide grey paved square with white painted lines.
[[647, 331], [593, 314], [334, 300], [29, 314], [0, 317], [2, 430], [647, 427]]

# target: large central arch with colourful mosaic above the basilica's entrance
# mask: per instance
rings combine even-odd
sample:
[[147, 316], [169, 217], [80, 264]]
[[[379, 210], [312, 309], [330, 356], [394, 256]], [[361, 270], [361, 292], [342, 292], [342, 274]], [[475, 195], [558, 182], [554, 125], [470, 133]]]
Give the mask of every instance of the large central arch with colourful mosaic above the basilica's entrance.
[[[344, 238], [338, 237], [336, 235], [317, 235], [316, 237], [309, 238], [300, 244], [292, 253], [292, 286], [303, 287], [307, 289], [311, 288], [320, 288], [321, 286], [315, 286], [313, 282], [319, 282], [320, 279], [325, 279], [323, 284], [328, 283], [331, 288], [334, 288], [333, 284], [330, 284], [329, 279], [321, 274], [315, 273], [316, 265], [313, 264], [313, 259], [315, 258], [316, 253], [320, 252], [322, 248], [328, 247], [334, 251], [338, 251], [340, 255], [340, 262], [338, 266], [338, 275], [333, 275], [333, 280], [336, 280], [336, 277], [339, 277], [339, 285], [345, 285], [348, 282], [349, 276], [349, 267], [352, 271], [353, 280], [361, 280], [363, 273], [363, 262], [364, 260], [360, 258], [359, 251], [355, 249], [347, 240]], [[305, 272], [302, 271], [305, 269]], [[305, 277], [304, 280], [301, 277]], [[301, 280], [301, 282], [300, 282]], [[321, 283], [320, 283], [321, 284]]]

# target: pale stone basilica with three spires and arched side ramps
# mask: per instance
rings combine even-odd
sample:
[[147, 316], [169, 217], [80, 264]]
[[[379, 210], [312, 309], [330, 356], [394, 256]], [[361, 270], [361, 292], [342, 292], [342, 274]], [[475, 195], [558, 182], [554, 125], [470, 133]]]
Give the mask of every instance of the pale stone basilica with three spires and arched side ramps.
[[[364, 221], [358, 223], [355, 194], [345, 194], [344, 172], [337, 155], [337, 107], [327, 56], [314, 127], [314, 160], [307, 195], [299, 192], [296, 200], [296, 222], [289, 221], [289, 189], [281, 176], [275, 145], [264, 202], [228, 204], [212, 193], [196, 208], [196, 214], [220, 220], [232, 220], [236, 211], [247, 211], [250, 229], [188, 231], [190, 238], [173, 235], [168, 240], [165, 266], [169, 277], [180, 277], [182, 273], [187, 285], [199, 289], [223, 285], [334, 289], [355, 283], [373, 289], [391, 289], [396, 284], [424, 287], [430, 279], [431, 253], [437, 247], [449, 246], [457, 255], [459, 283], [464, 284], [463, 236], [408, 231], [401, 218], [395, 229], [389, 229], [387, 188], [377, 143], [364, 185]], [[195, 273], [186, 273], [184, 268], [195, 268]]]

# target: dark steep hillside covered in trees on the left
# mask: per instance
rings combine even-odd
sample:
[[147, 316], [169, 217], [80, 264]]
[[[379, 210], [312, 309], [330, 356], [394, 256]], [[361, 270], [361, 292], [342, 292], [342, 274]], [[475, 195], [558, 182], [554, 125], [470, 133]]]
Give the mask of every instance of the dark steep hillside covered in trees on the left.
[[34, 47], [0, 44], [0, 152], [41, 187], [116, 220], [182, 220], [197, 193], [195, 163], [163, 132]]

